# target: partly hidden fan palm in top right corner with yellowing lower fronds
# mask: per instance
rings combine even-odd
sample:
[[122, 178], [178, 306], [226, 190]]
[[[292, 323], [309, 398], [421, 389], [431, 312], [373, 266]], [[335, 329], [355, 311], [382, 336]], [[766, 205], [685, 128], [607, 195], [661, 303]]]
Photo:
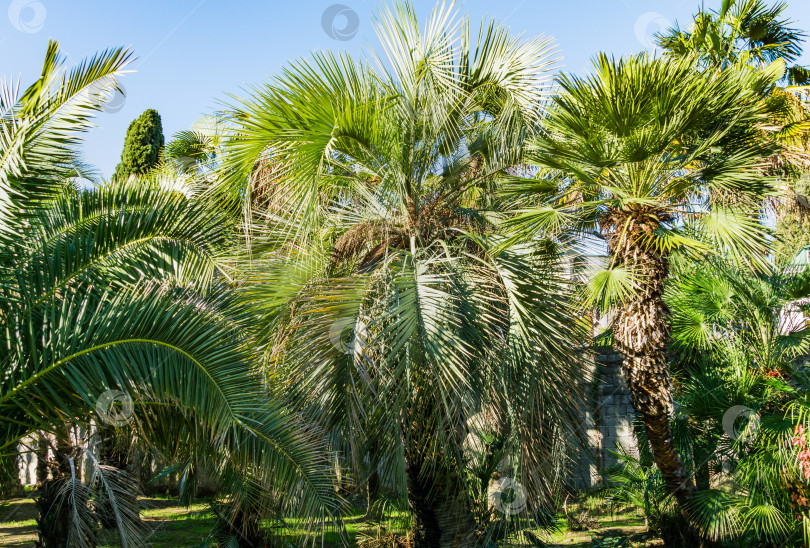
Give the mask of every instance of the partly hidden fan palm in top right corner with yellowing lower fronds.
[[[805, 34], [783, 17], [787, 4], [772, 6], [762, 0], [726, 0], [718, 11], [701, 9], [691, 30], [677, 25], [658, 36], [667, 55], [696, 58], [697, 69], [710, 74], [719, 70], [758, 70], [779, 62], [787, 67], [802, 54]], [[787, 87], [766, 88], [771, 122], [765, 139], [776, 139], [780, 149], [771, 157], [770, 171], [782, 181], [776, 206], [777, 233], [786, 240], [777, 249], [777, 261], [790, 260], [807, 243], [802, 221], [810, 212], [807, 189], [800, 181], [810, 171], [810, 71], [794, 65], [787, 69]], [[799, 234], [796, 234], [799, 233]], [[781, 256], [780, 256], [781, 255]]]

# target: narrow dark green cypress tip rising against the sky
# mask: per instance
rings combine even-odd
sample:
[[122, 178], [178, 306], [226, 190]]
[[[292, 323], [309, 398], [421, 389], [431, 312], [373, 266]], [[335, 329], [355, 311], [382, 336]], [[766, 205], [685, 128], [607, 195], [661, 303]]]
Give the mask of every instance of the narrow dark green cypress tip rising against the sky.
[[150, 108], [129, 124], [121, 163], [115, 168], [113, 180], [125, 181], [132, 174], [140, 175], [155, 167], [160, 160], [163, 143], [160, 114]]

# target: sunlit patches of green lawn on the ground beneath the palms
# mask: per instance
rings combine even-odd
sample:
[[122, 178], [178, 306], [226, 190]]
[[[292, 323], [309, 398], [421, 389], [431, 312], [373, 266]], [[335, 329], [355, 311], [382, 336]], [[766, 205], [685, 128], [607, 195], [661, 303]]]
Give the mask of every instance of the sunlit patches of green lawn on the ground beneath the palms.
[[[152, 531], [150, 546], [155, 548], [180, 548], [199, 546], [216, 520], [210, 506], [203, 502], [190, 508], [177, 506], [172, 499], [143, 498], [141, 516]], [[590, 506], [590, 505], [589, 505]], [[591, 548], [593, 546], [652, 547], [661, 542], [647, 531], [643, 517], [634, 509], [611, 511], [604, 508], [589, 508], [589, 529], [569, 530], [565, 516], [558, 520], [559, 531], [539, 536], [554, 547]], [[405, 529], [407, 516], [392, 512], [383, 522], [362, 519], [362, 510], [347, 517], [346, 532], [352, 545], [380, 547], [394, 546], [392, 533], [400, 535]], [[0, 503], [0, 546], [32, 547], [36, 540], [36, 510], [30, 498], [19, 498]], [[296, 546], [303, 537], [300, 524], [295, 520], [284, 523], [269, 523], [268, 527], [284, 541], [282, 544]], [[605, 539], [601, 544], [599, 539]], [[616, 539], [609, 540], [609, 539]], [[114, 531], [102, 533], [101, 546], [118, 547]], [[319, 542], [320, 544], [320, 542]], [[339, 546], [340, 536], [330, 531], [324, 538], [325, 546]]]

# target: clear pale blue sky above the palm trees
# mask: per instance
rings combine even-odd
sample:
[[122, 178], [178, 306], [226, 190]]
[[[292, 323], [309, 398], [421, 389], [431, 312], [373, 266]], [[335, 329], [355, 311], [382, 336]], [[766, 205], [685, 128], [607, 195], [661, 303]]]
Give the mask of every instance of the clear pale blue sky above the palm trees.
[[[330, 37], [322, 14], [339, 2], [356, 14], [349, 40]], [[720, 0], [705, 0], [709, 7]], [[433, 0], [415, 0], [426, 17]], [[637, 52], [650, 36], [691, 20], [699, 0], [467, 0], [473, 21], [501, 19], [516, 33], [555, 37], [564, 70], [584, 72], [599, 51]], [[139, 60], [122, 81], [127, 96], [116, 112], [100, 115], [85, 145], [86, 159], [109, 177], [118, 163], [129, 122], [157, 109], [170, 137], [216, 110], [229, 93], [267, 80], [289, 60], [318, 49], [361, 53], [375, 47], [372, 0], [0, 0], [0, 75], [36, 75], [49, 38], [61, 43], [68, 63], [110, 46], [129, 46]], [[8, 12], [6, 16], [5, 12]], [[792, 0], [796, 26], [810, 30], [810, 0]], [[349, 18], [354, 17], [351, 13]], [[339, 15], [335, 27], [346, 26]], [[810, 47], [808, 47], [810, 52]], [[805, 53], [801, 63], [810, 65]]]

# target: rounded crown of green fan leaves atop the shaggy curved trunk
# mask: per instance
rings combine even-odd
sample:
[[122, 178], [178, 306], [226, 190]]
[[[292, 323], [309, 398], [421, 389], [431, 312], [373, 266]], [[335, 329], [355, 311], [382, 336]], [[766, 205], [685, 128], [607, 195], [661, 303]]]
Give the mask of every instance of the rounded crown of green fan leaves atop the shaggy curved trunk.
[[[541, 168], [536, 179], [556, 189], [527, 192], [510, 180], [506, 190], [520, 207], [508, 221], [512, 230], [522, 237], [607, 233], [616, 241], [639, 232], [663, 254], [762, 255], [759, 204], [772, 190], [759, 168], [771, 149], [752, 144], [753, 127], [767, 120], [754, 89], [781, 72], [729, 70], [709, 79], [694, 71], [692, 58], [646, 54], [600, 55], [594, 69], [587, 78], [560, 77], [548, 131], [529, 150]], [[721, 199], [728, 195], [737, 197], [733, 207]], [[613, 224], [623, 215], [640, 215], [644, 224]], [[633, 274], [603, 274], [593, 294], [601, 302], [621, 298]], [[613, 296], [605, 293], [611, 288]]]

